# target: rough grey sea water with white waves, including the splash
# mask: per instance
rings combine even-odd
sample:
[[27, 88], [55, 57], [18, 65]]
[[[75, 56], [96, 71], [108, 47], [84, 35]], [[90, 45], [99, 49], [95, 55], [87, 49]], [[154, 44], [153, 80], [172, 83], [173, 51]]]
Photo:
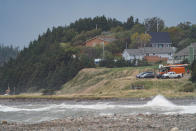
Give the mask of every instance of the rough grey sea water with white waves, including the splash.
[[[175, 102], [175, 104], [174, 104]], [[130, 115], [130, 114], [193, 114], [194, 99], [170, 101], [162, 95], [152, 100], [88, 100], [61, 102], [0, 102], [0, 120], [36, 123], [63, 117]]]

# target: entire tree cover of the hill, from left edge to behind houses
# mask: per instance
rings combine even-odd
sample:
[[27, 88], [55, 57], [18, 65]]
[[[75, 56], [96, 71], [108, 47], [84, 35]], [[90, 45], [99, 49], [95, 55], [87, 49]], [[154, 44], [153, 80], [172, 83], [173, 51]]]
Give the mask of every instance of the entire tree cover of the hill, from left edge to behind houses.
[[[147, 32], [154, 31], [156, 21], [160, 21], [159, 31], [168, 31], [178, 48], [184, 47], [187, 41], [195, 40], [196, 27], [189, 23], [168, 28], [160, 18], [147, 19], [144, 23], [132, 16], [125, 22], [105, 16], [79, 19], [69, 26], [47, 29], [37, 40], [31, 41], [16, 59], [10, 59], [0, 67], [0, 93], [5, 92], [8, 84], [12, 92], [15, 87], [16, 93], [58, 90], [82, 68], [94, 67], [94, 58], [104, 57], [106, 61], [101, 63], [102, 66], [109, 65], [107, 62], [113, 63], [114, 59], [119, 59], [115, 63], [117, 67], [123, 64], [131, 66], [133, 64], [123, 61], [119, 54], [127, 47], [137, 48], [146, 44], [149, 41], [148, 35], [144, 35], [146, 27], [149, 26]], [[105, 47], [105, 56], [100, 46], [83, 46], [86, 40], [102, 32], [110, 32], [117, 39]], [[141, 43], [136, 39], [147, 41]]]

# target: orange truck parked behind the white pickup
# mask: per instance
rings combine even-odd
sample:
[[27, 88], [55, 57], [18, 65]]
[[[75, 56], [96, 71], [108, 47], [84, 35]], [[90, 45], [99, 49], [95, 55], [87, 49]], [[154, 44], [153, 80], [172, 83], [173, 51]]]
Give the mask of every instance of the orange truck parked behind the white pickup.
[[176, 74], [185, 74], [186, 66], [188, 64], [175, 64], [175, 65], [166, 65], [166, 66], [159, 66], [159, 75], [163, 75], [167, 72], [175, 72]]

